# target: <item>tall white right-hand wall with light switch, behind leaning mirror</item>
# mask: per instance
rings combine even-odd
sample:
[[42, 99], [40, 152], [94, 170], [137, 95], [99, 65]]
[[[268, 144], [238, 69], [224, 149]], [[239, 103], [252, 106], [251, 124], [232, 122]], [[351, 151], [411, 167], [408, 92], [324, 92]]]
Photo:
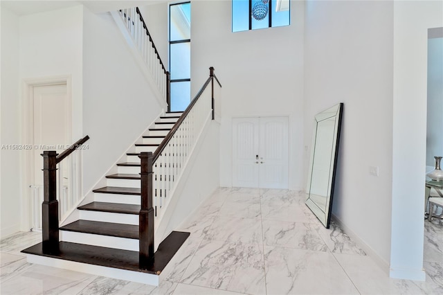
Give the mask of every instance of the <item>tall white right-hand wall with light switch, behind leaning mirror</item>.
[[[332, 213], [390, 260], [392, 181], [390, 1], [307, 1], [305, 179], [314, 116], [344, 102]], [[379, 176], [370, 175], [379, 167]]]

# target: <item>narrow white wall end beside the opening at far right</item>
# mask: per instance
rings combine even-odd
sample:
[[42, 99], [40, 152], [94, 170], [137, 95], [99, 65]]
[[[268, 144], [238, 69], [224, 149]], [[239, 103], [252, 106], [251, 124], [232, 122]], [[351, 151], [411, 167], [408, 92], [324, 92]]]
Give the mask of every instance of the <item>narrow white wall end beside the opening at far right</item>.
[[442, 1], [394, 1], [390, 276], [395, 278], [425, 278], [422, 265], [428, 28], [443, 26], [442, 11]]

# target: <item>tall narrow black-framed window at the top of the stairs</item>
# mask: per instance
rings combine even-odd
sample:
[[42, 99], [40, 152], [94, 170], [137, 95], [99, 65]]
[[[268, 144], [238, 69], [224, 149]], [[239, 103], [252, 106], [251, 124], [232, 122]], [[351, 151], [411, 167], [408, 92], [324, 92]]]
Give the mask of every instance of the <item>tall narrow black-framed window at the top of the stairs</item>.
[[191, 3], [169, 7], [170, 111], [184, 111], [191, 95]]

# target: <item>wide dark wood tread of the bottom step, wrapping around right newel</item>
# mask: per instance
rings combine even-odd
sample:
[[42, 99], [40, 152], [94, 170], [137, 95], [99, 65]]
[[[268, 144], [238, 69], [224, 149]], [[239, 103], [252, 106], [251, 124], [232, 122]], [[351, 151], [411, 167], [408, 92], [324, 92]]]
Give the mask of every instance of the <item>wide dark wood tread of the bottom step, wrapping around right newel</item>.
[[52, 253], [44, 253], [42, 243], [39, 243], [21, 252], [88, 263], [90, 265], [100, 265], [102, 267], [114, 267], [129, 271], [141, 271], [148, 274], [159, 274], [165, 269], [165, 266], [168, 265], [168, 262], [170, 262], [174, 254], [177, 253], [188, 237], [189, 233], [172, 231], [172, 233], [168, 235], [168, 238], [165, 238], [165, 240], [160, 243], [159, 249], [154, 253], [154, 260], [147, 266], [147, 269], [140, 269], [138, 264], [138, 251], [111, 249], [87, 244], [59, 242], [59, 249], [52, 251]]

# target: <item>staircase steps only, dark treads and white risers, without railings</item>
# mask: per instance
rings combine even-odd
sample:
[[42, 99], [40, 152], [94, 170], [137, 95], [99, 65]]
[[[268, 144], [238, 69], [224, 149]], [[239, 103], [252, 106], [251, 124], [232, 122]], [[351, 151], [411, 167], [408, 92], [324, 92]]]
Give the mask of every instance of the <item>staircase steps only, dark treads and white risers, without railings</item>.
[[[159, 245], [145, 269], [139, 265], [138, 214], [141, 211], [141, 152], [154, 152], [181, 113], [166, 113], [136, 143], [127, 161], [118, 163], [118, 173], [107, 175], [107, 186], [93, 190], [94, 201], [78, 206], [80, 219], [60, 227], [56, 251], [43, 251], [42, 243], [23, 250], [28, 262], [90, 274], [158, 285], [159, 274], [189, 233], [173, 231]], [[91, 267], [95, 265], [96, 267]], [[116, 271], [117, 269], [117, 271]]]

